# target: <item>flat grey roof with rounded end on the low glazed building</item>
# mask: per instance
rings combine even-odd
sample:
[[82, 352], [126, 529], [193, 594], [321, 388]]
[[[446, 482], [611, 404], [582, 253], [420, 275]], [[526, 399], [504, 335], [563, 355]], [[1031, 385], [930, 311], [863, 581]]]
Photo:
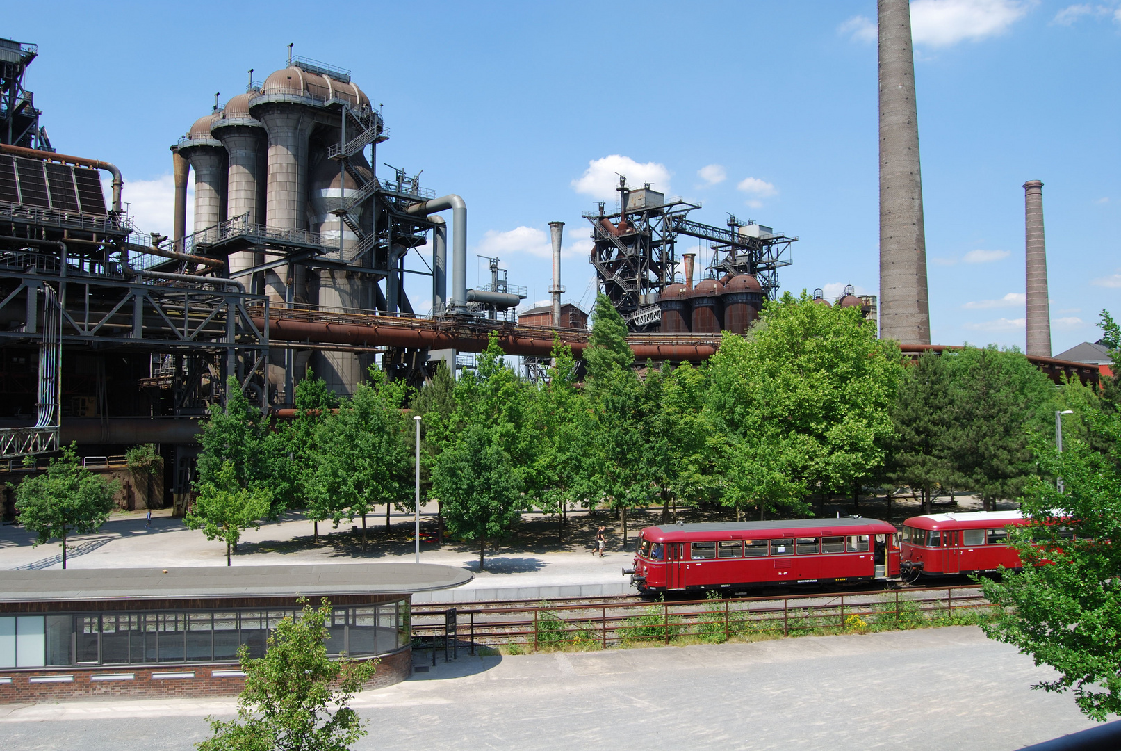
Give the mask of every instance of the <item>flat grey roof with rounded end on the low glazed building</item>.
[[7, 571], [0, 603], [406, 594], [447, 590], [472, 578], [453, 566], [399, 563]]

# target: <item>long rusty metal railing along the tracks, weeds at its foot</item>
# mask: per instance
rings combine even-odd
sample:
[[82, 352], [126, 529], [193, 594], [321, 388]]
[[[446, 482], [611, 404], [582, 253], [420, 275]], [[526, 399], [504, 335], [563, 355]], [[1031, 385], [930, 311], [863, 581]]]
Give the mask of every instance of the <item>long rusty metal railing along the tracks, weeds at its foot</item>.
[[[725, 641], [736, 637], [844, 632], [874, 628], [914, 628], [954, 622], [993, 605], [976, 585], [924, 590], [802, 594], [785, 597], [728, 597], [679, 602], [594, 602], [503, 606], [455, 606], [456, 628], [478, 646], [597, 648], [618, 645]], [[424, 643], [442, 638], [448, 610], [437, 604], [413, 608], [413, 637]]]

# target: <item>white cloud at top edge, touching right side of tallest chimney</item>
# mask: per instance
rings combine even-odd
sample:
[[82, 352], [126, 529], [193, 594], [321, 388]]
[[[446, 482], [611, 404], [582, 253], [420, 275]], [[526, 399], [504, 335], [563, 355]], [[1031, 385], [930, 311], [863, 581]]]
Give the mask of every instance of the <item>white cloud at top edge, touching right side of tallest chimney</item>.
[[911, 38], [917, 45], [948, 47], [1003, 34], [1034, 0], [912, 0]]

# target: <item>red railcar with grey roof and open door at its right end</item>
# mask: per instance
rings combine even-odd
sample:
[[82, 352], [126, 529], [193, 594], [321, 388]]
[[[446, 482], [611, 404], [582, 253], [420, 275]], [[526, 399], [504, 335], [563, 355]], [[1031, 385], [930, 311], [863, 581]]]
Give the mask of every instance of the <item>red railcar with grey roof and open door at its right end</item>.
[[643, 594], [891, 578], [899, 534], [856, 518], [646, 527], [623, 574]]

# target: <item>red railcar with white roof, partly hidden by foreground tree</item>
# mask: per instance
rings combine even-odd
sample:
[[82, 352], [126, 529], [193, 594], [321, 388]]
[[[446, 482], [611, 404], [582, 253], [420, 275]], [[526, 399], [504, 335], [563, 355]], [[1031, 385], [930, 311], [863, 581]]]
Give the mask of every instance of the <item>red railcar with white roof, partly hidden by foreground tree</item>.
[[1006, 545], [1007, 527], [1026, 525], [1019, 511], [930, 513], [904, 522], [905, 578], [1020, 568], [1020, 555]]

